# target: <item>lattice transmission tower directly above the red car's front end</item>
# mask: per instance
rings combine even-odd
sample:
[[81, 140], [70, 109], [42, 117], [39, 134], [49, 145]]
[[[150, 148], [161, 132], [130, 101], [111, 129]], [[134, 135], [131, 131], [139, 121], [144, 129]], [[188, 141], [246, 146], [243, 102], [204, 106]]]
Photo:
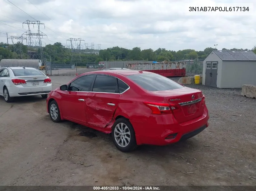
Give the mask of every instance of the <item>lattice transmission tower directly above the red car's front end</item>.
[[81, 63], [80, 53], [83, 52], [81, 49], [81, 42], [85, 41], [81, 38], [69, 38], [67, 41], [70, 41], [71, 46], [71, 65], [76, 65], [76, 75], [77, 75], [77, 62]]

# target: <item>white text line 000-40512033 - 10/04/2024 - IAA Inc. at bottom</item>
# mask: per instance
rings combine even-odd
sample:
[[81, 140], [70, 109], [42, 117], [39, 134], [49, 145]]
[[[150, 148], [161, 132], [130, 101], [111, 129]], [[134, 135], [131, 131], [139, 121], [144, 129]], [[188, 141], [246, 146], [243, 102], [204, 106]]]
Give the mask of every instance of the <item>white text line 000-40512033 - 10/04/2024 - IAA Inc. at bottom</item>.
[[160, 190], [157, 186], [93, 186], [93, 190]]

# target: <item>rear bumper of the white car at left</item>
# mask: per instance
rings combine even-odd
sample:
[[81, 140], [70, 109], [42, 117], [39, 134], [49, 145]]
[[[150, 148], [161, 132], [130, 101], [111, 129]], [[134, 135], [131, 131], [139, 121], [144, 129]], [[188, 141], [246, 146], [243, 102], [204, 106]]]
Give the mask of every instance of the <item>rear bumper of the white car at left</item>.
[[23, 87], [22, 85], [8, 87], [10, 97], [44, 95], [52, 91], [52, 84], [39, 87]]

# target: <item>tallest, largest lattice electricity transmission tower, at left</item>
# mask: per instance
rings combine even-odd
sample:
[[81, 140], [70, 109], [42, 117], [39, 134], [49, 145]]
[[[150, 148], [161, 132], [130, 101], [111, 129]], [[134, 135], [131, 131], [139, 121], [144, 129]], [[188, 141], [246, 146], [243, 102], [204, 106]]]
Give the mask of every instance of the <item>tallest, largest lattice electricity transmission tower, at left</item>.
[[[28, 30], [22, 34], [22, 36], [27, 36], [28, 59], [40, 59], [43, 65], [45, 65], [45, 72], [47, 73], [46, 58], [43, 53], [41, 41], [41, 38], [43, 38], [44, 36], [47, 37], [47, 35], [40, 31], [40, 25], [43, 25], [45, 27], [45, 24], [41, 21], [29, 20], [23, 22], [22, 27], [23, 24], [28, 25]], [[31, 28], [31, 25], [33, 25], [33, 29]]]

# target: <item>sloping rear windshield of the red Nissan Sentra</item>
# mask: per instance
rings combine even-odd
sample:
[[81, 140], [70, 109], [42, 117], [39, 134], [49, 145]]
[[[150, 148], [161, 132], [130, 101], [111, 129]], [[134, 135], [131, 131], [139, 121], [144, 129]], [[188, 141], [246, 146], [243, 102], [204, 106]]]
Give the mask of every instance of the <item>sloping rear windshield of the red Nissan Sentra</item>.
[[127, 76], [148, 91], [165, 91], [183, 88], [182, 85], [158, 74], [135, 74]]

